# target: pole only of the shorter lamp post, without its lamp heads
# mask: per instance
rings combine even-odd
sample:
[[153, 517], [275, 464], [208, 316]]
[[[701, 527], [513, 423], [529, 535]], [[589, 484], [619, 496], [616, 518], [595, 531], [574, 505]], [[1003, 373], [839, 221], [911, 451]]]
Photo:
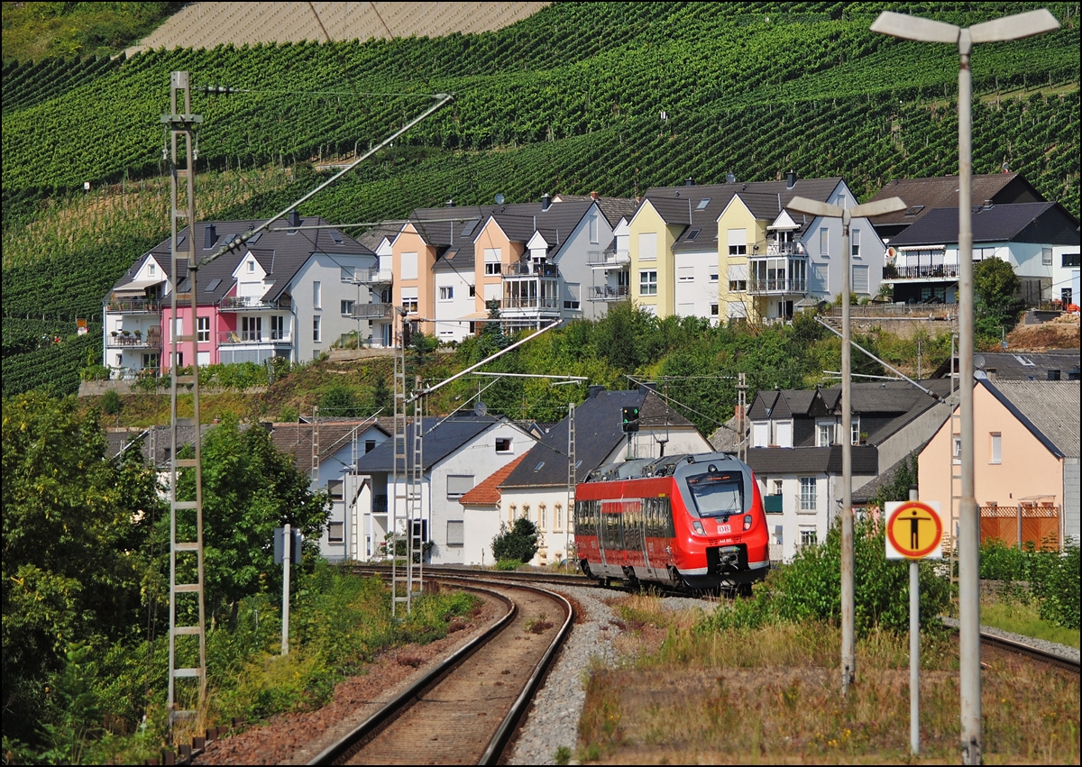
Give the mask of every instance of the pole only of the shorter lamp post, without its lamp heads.
[[849, 209], [842, 212], [842, 695], [857, 674], [853, 587], [853, 347], [849, 321]]

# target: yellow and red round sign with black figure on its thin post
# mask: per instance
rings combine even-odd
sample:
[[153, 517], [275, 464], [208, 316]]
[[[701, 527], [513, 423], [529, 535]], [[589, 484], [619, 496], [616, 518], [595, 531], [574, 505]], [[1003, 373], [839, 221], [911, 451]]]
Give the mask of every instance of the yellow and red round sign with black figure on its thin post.
[[942, 559], [944, 526], [939, 502], [921, 503], [916, 488], [909, 501], [886, 504], [886, 558], [909, 559], [909, 748], [921, 753], [921, 559]]

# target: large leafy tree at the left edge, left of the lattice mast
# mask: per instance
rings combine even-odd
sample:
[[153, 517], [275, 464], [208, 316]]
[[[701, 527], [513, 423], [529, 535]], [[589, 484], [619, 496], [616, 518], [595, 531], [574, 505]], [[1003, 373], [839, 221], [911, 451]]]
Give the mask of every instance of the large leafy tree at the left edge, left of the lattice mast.
[[[157, 481], [138, 451], [113, 460], [96, 411], [39, 393], [3, 401], [3, 678], [26, 693], [72, 644], [140, 624]], [[4, 706], [5, 736], [32, 740], [32, 703]]]

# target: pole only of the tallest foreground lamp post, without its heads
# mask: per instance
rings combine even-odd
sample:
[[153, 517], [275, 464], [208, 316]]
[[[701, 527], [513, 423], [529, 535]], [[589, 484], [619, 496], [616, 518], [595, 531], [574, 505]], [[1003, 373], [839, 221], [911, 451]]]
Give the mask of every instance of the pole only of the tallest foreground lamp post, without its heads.
[[973, 93], [968, 29], [959, 35], [958, 50], [958, 274], [959, 362], [961, 386], [962, 499], [959, 508], [959, 671], [962, 693], [962, 764], [981, 763], [980, 732], [980, 519], [973, 464]]

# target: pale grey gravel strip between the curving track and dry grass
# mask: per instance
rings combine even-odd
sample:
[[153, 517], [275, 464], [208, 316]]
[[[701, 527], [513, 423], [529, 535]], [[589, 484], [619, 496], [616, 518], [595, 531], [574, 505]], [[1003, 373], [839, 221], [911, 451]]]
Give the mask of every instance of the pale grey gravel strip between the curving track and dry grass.
[[[585, 614], [577, 618], [544, 687], [533, 699], [511, 753], [512, 765], [554, 765], [559, 746], [566, 746], [573, 755], [579, 742], [579, 717], [586, 700], [584, 682], [591, 659], [596, 657], [607, 665], [617, 661], [612, 640], [620, 630], [609, 622], [615, 621], [617, 614], [598, 597], [619, 596], [619, 593], [586, 586], [545, 584], [544, 587], [570, 597]], [[704, 599], [667, 597], [662, 606], [671, 610], [701, 607], [713, 611], [717, 604]]]

